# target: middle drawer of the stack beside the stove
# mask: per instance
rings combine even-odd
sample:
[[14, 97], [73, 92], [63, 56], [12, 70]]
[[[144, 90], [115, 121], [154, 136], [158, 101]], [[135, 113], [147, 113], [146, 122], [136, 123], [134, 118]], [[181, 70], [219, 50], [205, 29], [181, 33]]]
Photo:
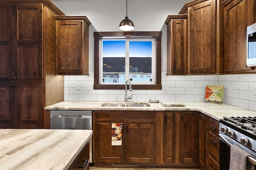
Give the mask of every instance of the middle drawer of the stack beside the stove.
[[210, 132], [208, 137], [209, 155], [220, 163], [220, 140]]

